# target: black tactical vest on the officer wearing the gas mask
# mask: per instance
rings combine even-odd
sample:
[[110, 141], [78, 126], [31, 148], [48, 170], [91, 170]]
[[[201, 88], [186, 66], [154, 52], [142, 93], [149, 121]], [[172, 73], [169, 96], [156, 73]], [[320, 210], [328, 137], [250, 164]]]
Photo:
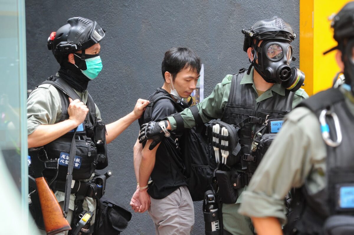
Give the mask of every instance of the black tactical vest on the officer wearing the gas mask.
[[252, 84], [240, 84], [246, 70], [234, 74], [231, 82], [231, 90], [225, 106], [221, 121], [228, 124], [239, 125], [239, 142], [241, 144], [241, 161], [236, 169], [254, 172], [259, 159], [250, 159], [247, 155], [251, 152], [251, 143], [262, 124], [268, 119], [282, 119], [292, 110], [294, 92], [285, 90], [285, 96], [273, 92], [273, 96], [256, 102], [257, 94]]

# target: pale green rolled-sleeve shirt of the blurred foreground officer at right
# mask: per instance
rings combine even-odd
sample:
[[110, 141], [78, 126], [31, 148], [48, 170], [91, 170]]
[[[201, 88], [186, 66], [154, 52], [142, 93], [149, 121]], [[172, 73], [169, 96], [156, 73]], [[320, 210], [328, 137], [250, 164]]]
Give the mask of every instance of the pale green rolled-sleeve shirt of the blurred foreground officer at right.
[[[352, 94], [339, 89], [354, 115]], [[291, 188], [304, 185], [311, 194], [324, 189], [326, 152], [318, 118], [307, 108], [295, 108], [252, 176], [239, 213], [285, 223], [284, 198]]]

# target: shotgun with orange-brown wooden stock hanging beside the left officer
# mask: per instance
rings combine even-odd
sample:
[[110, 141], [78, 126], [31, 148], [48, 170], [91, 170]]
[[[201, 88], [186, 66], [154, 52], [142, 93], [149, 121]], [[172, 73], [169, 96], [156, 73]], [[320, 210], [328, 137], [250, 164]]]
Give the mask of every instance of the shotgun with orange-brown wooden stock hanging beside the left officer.
[[39, 158], [39, 152], [40, 149], [32, 149], [30, 151], [36, 190], [42, 209], [45, 231], [47, 235], [55, 235], [63, 231], [71, 230], [71, 227], [69, 222], [64, 218], [63, 210], [42, 174], [45, 168], [57, 169], [58, 160], [42, 161]]

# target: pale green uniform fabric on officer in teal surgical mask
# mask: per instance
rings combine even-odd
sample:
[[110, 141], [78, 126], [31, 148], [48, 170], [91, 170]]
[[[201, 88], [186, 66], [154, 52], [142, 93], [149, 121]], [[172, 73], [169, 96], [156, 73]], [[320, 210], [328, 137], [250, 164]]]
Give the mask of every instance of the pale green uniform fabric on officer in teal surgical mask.
[[[79, 97], [82, 102], [86, 104], [88, 92], [78, 92]], [[96, 106], [96, 117], [101, 119], [101, 113]], [[62, 114], [62, 104], [57, 88], [50, 84], [42, 84], [38, 86], [37, 89], [33, 90], [27, 100], [27, 133], [32, 134], [39, 125], [52, 125], [59, 122]], [[93, 178], [94, 174], [92, 174]], [[89, 180], [91, 180], [91, 178]], [[88, 180], [85, 180], [88, 181]], [[64, 201], [64, 192], [56, 191], [55, 196], [58, 202]], [[90, 211], [95, 211], [96, 200], [92, 198], [85, 198], [87, 201], [88, 208]], [[75, 208], [75, 195], [70, 194], [69, 209], [74, 210]], [[95, 221], [93, 217], [92, 221]]]

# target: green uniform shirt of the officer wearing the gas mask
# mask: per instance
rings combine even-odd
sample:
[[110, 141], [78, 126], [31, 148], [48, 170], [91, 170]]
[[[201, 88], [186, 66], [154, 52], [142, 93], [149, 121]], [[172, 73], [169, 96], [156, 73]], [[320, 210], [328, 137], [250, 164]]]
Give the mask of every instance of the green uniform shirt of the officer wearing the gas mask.
[[[245, 74], [241, 80], [241, 84], [252, 84], [255, 93], [257, 94], [257, 90], [255, 84], [253, 82], [253, 70], [252, 68], [249, 75]], [[221, 83], [218, 83], [214, 88], [213, 92], [205, 98], [202, 102], [197, 104], [199, 109], [199, 115], [204, 123], [209, 122], [211, 119], [221, 118], [227, 100], [229, 98], [230, 89], [231, 89], [231, 79], [232, 75], [226, 75], [226, 77], [222, 80]], [[274, 84], [269, 90], [266, 90], [261, 96], [256, 99], [257, 102], [268, 99], [273, 96], [273, 92], [276, 92], [280, 95], [285, 95], [285, 88], [280, 84]], [[295, 107], [299, 104], [303, 99], [307, 99], [309, 96], [305, 92], [304, 89], [299, 89], [295, 92], [295, 96], [293, 99], [292, 107]], [[193, 118], [192, 112], [189, 108], [186, 108], [181, 112], [181, 116], [184, 121], [185, 128], [192, 128], [195, 126], [195, 121]], [[175, 130], [177, 128], [176, 120], [173, 117], [167, 118], [171, 124], [171, 129]]]

